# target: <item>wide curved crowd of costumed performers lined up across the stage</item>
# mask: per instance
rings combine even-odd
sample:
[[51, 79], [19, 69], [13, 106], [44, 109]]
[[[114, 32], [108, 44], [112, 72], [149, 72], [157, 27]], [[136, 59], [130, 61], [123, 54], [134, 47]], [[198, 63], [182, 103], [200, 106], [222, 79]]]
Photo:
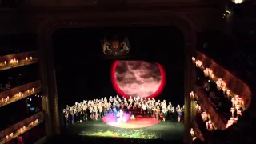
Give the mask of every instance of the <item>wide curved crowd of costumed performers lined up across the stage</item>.
[[130, 114], [130, 119], [136, 118], [136, 115], [142, 115], [162, 121], [182, 122], [184, 106], [174, 107], [171, 102], [156, 101], [154, 98], [140, 98], [139, 96], [120, 98], [117, 95], [110, 96], [109, 99], [105, 97], [80, 103], [75, 102], [74, 106], [66, 106], [66, 109], [63, 110], [66, 125], [86, 120], [98, 120], [108, 114], [114, 114], [115, 120], [118, 121], [117, 118], [122, 113]]

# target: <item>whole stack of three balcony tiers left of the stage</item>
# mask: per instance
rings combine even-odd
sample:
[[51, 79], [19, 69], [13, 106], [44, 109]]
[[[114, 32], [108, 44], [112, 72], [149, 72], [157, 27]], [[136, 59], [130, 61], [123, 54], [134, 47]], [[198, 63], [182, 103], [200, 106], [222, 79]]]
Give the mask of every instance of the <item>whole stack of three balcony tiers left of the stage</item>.
[[0, 143], [33, 143], [45, 135], [36, 35], [4, 34], [0, 43]]

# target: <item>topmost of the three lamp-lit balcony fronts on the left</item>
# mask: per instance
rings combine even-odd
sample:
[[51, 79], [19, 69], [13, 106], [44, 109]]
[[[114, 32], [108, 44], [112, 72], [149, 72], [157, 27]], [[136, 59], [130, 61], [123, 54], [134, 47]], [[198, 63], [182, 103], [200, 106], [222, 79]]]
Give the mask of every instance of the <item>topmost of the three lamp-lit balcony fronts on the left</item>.
[[38, 62], [38, 51], [10, 54], [0, 57], [0, 70], [8, 70]]

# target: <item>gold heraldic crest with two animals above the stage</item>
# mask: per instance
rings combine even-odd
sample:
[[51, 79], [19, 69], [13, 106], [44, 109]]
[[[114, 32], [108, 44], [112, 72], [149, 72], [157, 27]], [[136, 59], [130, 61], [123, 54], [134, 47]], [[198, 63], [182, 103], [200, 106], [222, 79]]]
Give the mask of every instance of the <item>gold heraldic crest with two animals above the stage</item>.
[[126, 56], [130, 52], [130, 42], [128, 38], [113, 38], [102, 40], [103, 54], [108, 56]]

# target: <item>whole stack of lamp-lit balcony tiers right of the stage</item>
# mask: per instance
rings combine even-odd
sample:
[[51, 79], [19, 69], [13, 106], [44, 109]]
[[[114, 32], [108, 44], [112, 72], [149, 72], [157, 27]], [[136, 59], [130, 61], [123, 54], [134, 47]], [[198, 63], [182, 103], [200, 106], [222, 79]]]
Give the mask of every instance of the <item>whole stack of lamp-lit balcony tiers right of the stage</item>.
[[[251, 104], [252, 92], [240, 78], [197, 51], [192, 62], [196, 67], [193, 99], [193, 134], [202, 141], [216, 130], [227, 130], [241, 121]], [[193, 135], [192, 135], [193, 136]]]

